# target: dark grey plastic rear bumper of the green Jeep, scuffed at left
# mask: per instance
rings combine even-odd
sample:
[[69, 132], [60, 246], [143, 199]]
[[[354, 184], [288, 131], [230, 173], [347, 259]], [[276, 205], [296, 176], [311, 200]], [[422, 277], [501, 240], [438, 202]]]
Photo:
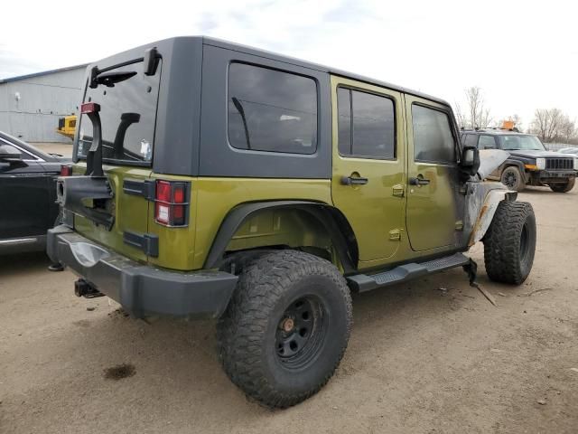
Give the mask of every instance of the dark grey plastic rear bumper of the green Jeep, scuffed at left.
[[48, 231], [48, 256], [70, 267], [135, 317], [220, 316], [237, 284], [224, 271], [179, 273], [139, 264], [66, 226]]

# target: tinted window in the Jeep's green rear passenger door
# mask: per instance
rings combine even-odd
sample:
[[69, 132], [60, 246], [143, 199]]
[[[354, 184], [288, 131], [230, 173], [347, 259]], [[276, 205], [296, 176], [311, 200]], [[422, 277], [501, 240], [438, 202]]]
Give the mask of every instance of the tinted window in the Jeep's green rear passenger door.
[[339, 88], [337, 107], [338, 148], [342, 156], [396, 158], [393, 100]]

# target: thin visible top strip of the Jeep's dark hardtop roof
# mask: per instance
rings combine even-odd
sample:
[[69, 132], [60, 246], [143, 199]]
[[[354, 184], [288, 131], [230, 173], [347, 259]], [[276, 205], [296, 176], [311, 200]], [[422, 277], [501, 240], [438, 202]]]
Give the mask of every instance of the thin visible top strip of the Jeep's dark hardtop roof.
[[164, 39], [162, 41], [150, 42], [150, 43], [147, 43], [147, 44], [142, 45], [140, 47], [136, 47], [134, 49], [128, 50], [126, 52], [117, 53], [114, 56], [111, 56], [111, 57], [106, 58], [106, 59], [102, 59], [101, 61], [91, 63], [89, 65], [89, 69], [92, 68], [93, 66], [100, 65], [103, 62], [105, 64], [111, 64], [114, 62], [113, 59], [117, 58], [117, 56], [118, 57], [125, 57], [124, 55], [128, 54], [129, 52], [138, 52], [138, 51], [144, 52], [144, 50], [146, 50], [147, 48], [151, 48], [154, 46], [158, 47], [159, 51], [162, 52], [163, 46], [170, 46], [170, 45], [172, 45], [173, 42], [184, 42], [184, 43], [188, 42], [188, 43], [191, 43], [191, 46], [200, 42], [200, 43], [203, 43], [205, 45], [212, 45], [215, 47], [225, 48], [225, 49], [233, 50], [236, 52], [243, 52], [243, 53], [247, 53], [247, 54], [251, 54], [251, 55], [255, 55], [255, 56], [259, 56], [259, 57], [264, 57], [266, 59], [270, 59], [270, 60], [274, 60], [274, 61], [282, 61], [282, 62], [289, 63], [289, 64], [292, 64], [295, 66], [300, 66], [303, 68], [308, 68], [308, 69], [312, 69], [312, 70], [316, 70], [316, 71], [328, 72], [328, 73], [333, 74], [333, 75], [339, 75], [340, 77], [344, 77], [344, 78], [348, 78], [348, 79], [352, 79], [352, 80], [359, 80], [359, 81], [363, 81], [365, 83], [374, 84], [376, 86], [381, 86], [381, 87], [384, 87], [384, 88], [387, 88], [390, 90], [396, 90], [399, 92], [404, 92], [404, 93], [407, 93], [410, 95], [414, 95], [416, 97], [421, 97], [424, 99], [430, 99], [434, 102], [437, 102], [439, 104], [443, 104], [443, 105], [451, 108], [450, 104], [447, 101], [440, 99], [440, 98], [433, 97], [431, 95], [427, 95], [427, 94], [422, 93], [422, 92], [418, 92], [417, 90], [406, 89], [402, 86], [396, 86], [395, 84], [388, 83], [386, 81], [374, 80], [374, 79], [364, 77], [364, 76], [359, 75], [359, 74], [355, 74], [355, 73], [348, 72], [348, 71], [341, 71], [341, 70], [338, 70], [336, 68], [323, 66], [323, 65], [320, 65], [318, 63], [311, 62], [311, 61], [303, 61], [303, 60], [296, 59], [296, 58], [291, 57], [291, 56], [284, 56], [282, 54], [278, 54], [275, 52], [269, 52], [266, 50], [261, 50], [261, 49], [249, 47], [247, 45], [242, 45], [242, 44], [235, 43], [235, 42], [223, 41], [223, 40], [211, 38], [208, 36], [176, 36], [176, 37]]

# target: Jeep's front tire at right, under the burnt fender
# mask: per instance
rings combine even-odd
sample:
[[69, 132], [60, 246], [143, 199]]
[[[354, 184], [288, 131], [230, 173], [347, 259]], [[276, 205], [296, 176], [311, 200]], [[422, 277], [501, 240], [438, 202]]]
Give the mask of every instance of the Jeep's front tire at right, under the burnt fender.
[[527, 202], [500, 202], [483, 238], [488, 277], [519, 285], [526, 280], [536, 250], [536, 217]]

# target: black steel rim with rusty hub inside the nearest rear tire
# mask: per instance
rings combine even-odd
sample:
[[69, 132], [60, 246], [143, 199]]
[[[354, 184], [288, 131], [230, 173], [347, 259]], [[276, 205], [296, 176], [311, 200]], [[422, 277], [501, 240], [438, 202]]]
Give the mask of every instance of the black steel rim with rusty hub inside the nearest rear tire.
[[312, 363], [327, 336], [327, 313], [318, 297], [300, 297], [289, 305], [277, 324], [275, 354], [287, 369]]

